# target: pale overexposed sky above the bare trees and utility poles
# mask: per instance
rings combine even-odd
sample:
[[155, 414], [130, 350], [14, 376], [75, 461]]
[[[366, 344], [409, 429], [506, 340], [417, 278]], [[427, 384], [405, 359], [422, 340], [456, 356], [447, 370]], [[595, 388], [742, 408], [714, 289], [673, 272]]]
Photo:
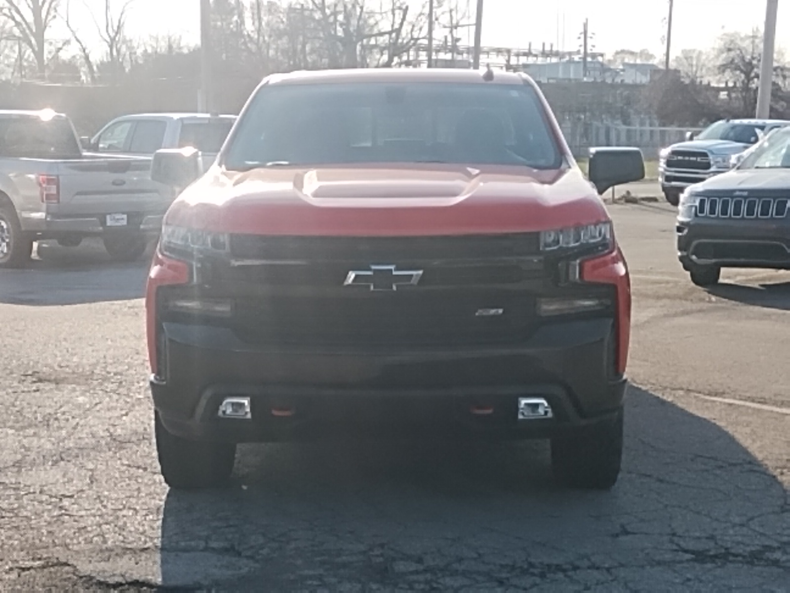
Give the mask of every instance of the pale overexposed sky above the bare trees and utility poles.
[[[115, 0], [119, 5], [122, 0]], [[423, 0], [412, 0], [422, 3]], [[103, 0], [68, 0], [73, 24], [81, 36], [96, 40], [88, 7], [100, 13]], [[199, 40], [199, 0], [132, 0], [128, 27], [133, 36], [182, 37]], [[475, 0], [470, 2], [474, 13]], [[65, 4], [66, 2], [64, 2]], [[777, 47], [790, 39], [790, 1], [782, 0], [777, 24]], [[596, 51], [610, 54], [627, 48], [648, 49], [664, 55], [668, 0], [485, 0], [483, 45], [498, 47], [555, 47], [574, 51], [585, 18]], [[683, 49], [708, 49], [722, 32], [749, 32], [765, 21], [765, 0], [675, 0], [672, 54]], [[564, 27], [563, 27], [564, 22]], [[444, 32], [438, 31], [439, 39]], [[563, 41], [564, 40], [564, 41]]]

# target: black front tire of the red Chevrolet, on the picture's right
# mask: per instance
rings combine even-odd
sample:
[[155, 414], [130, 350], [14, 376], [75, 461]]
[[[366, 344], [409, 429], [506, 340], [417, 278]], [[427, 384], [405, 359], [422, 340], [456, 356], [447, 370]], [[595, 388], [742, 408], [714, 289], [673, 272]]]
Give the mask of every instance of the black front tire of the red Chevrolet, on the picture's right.
[[551, 470], [563, 486], [608, 490], [623, 460], [623, 410], [578, 435], [551, 440]]

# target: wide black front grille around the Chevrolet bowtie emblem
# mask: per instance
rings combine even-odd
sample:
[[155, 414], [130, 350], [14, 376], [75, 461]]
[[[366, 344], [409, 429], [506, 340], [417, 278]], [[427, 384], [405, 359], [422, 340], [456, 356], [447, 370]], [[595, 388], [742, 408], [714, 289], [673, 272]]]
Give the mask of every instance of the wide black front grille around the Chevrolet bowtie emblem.
[[[349, 272], [377, 265], [422, 275], [417, 285], [397, 289], [371, 290], [364, 274], [362, 283], [345, 285]], [[231, 318], [209, 323], [229, 325], [247, 343], [361, 351], [505, 344], [528, 338], [542, 323], [535, 308], [541, 295], [611, 296], [608, 286], [558, 288], [560, 268], [559, 260], [540, 255], [537, 233], [352, 239], [237, 235], [231, 238], [231, 260], [202, 261], [192, 290], [232, 300]]]

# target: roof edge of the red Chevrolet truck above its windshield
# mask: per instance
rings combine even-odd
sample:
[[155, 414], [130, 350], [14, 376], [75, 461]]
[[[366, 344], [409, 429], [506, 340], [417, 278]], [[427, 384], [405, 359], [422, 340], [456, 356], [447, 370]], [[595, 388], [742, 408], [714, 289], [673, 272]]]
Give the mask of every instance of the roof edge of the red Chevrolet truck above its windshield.
[[348, 70], [297, 70], [287, 74], [272, 74], [264, 78], [269, 85], [310, 84], [316, 82], [490, 82], [506, 85], [523, 85], [532, 81], [522, 73], [492, 70], [493, 79], [486, 80], [484, 70], [459, 68], [353, 68]]

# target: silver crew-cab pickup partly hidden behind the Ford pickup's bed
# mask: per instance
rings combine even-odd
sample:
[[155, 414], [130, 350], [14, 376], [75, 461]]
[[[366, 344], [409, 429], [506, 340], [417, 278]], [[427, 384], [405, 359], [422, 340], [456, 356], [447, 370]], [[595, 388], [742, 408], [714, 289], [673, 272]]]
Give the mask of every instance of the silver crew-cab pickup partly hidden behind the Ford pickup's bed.
[[153, 157], [160, 149], [194, 148], [205, 168], [216, 158], [235, 115], [137, 113], [107, 123], [93, 138], [81, 138], [90, 153]]

